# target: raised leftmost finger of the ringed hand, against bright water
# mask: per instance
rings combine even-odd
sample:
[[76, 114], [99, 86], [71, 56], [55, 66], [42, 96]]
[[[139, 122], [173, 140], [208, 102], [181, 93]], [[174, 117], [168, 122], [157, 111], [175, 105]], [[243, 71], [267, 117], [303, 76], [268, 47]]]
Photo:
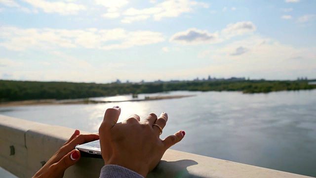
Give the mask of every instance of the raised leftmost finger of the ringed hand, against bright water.
[[113, 108], [109, 108], [105, 111], [103, 122], [99, 128], [99, 133], [100, 130], [103, 129], [111, 129], [117, 122], [118, 122], [118, 117], [120, 115], [120, 107], [114, 106]]

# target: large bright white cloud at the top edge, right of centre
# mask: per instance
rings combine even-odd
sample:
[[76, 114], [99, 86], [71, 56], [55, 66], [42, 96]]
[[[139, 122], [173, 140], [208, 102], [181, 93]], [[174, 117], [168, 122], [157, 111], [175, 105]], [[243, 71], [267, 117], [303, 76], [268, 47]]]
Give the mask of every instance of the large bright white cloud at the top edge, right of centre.
[[[140, 15], [152, 15], [154, 20], [161, 20], [162, 18], [178, 17], [183, 13], [192, 12], [194, 7], [200, 6], [208, 8], [209, 4], [193, 0], [164, 0], [153, 7], [143, 9], [128, 8], [123, 14], [127, 16], [138, 15], [139, 17], [143, 17], [142, 20], [147, 18]], [[139, 17], [138, 19], [140, 19]], [[123, 20], [124, 23], [127, 21]]]

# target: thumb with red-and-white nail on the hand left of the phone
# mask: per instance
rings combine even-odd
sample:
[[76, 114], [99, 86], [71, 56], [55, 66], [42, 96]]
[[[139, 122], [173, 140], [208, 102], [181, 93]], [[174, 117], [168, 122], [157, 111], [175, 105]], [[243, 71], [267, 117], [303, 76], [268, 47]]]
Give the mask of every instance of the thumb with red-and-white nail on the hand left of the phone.
[[60, 161], [58, 161], [53, 167], [55, 169], [55, 175], [63, 175], [67, 168], [77, 163], [80, 159], [79, 150], [73, 150], [65, 155]]

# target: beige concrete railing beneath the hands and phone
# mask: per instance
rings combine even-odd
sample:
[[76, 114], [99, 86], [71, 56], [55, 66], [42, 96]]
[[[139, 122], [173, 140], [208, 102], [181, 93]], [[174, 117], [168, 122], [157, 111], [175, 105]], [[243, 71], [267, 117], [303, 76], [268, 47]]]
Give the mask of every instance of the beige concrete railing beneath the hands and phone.
[[[19, 178], [31, 178], [73, 133], [70, 128], [0, 115], [0, 167]], [[103, 164], [102, 159], [82, 157], [64, 178], [99, 178]], [[169, 149], [148, 178], [174, 177], [307, 178]]]

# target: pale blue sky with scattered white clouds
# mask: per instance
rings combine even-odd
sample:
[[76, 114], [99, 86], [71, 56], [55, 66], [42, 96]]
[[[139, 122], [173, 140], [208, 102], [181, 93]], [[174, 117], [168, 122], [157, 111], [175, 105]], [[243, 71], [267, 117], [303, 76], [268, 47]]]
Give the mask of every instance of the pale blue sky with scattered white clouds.
[[316, 79], [316, 0], [0, 0], [0, 79]]

